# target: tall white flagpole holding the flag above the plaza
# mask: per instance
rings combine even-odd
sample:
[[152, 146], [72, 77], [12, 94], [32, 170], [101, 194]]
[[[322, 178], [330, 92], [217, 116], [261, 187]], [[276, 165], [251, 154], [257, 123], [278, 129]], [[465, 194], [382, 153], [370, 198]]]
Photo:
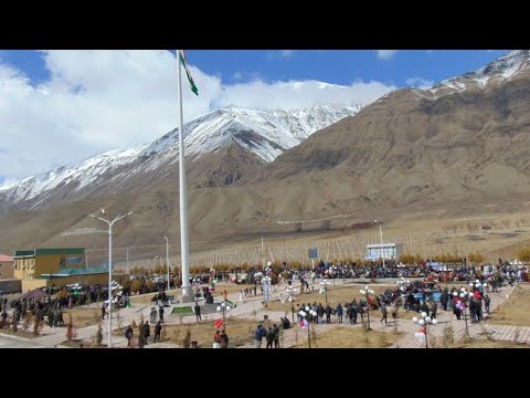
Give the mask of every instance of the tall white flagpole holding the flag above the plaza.
[[184, 116], [182, 112], [182, 65], [180, 50], [177, 50], [177, 64], [179, 78], [177, 87], [179, 92], [179, 191], [180, 191], [180, 261], [182, 264], [182, 302], [192, 300], [189, 272], [188, 250], [188, 206], [186, 197], [186, 165], [184, 165]]

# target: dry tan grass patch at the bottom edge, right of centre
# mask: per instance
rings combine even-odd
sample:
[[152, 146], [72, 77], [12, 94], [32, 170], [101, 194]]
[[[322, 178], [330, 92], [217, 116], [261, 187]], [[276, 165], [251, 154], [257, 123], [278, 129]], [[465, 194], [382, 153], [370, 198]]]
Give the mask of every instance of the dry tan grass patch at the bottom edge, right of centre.
[[[402, 333], [367, 332], [362, 327], [348, 326], [338, 326], [322, 333], [317, 329], [316, 336], [315, 333], [311, 332], [311, 348], [384, 348], [398, 342], [402, 335]], [[295, 348], [308, 348], [307, 331], [298, 333], [298, 344], [295, 344]]]

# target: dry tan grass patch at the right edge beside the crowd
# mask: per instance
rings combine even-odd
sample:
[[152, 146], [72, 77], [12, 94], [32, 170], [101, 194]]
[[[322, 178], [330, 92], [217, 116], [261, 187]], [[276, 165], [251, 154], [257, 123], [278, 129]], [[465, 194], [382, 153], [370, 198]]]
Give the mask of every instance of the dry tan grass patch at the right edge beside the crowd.
[[488, 324], [530, 326], [530, 286], [516, 289], [504, 304], [498, 306], [487, 318]]

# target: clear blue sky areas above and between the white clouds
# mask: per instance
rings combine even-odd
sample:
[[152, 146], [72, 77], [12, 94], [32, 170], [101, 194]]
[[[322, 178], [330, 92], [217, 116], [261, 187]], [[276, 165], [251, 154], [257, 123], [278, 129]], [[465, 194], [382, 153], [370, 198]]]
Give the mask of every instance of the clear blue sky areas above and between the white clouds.
[[[348, 85], [379, 81], [399, 87], [420, 77], [435, 83], [475, 71], [506, 50], [402, 50], [381, 57], [373, 50], [188, 50], [188, 60], [225, 84], [317, 80]], [[390, 55], [390, 56], [389, 56]], [[0, 51], [0, 62], [23, 71], [33, 83], [50, 78], [42, 54], [31, 50]]]

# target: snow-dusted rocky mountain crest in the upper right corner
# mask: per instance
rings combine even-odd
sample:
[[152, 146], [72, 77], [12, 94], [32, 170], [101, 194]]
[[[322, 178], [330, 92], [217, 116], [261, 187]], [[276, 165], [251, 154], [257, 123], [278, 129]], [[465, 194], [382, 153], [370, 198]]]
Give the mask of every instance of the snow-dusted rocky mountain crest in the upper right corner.
[[449, 92], [462, 92], [469, 88], [485, 88], [487, 85], [510, 81], [516, 75], [530, 69], [530, 51], [516, 50], [498, 57], [478, 71], [447, 78], [433, 88], [428, 94], [439, 96]]

